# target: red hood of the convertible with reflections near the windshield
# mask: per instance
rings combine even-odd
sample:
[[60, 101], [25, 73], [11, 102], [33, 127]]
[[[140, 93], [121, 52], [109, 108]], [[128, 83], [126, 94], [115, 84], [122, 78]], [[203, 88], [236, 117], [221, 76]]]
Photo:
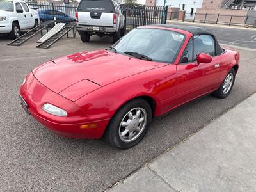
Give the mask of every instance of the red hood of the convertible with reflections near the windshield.
[[[60, 93], [83, 81], [105, 86], [128, 76], [162, 67], [165, 63], [138, 60], [106, 50], [79, 52], [49, 61], [33, 70], [33, 74], [47, 88]], [[97, 87], [94, 86], [93, 87]], [[92, 91], [92, 89], [90, 89]]]

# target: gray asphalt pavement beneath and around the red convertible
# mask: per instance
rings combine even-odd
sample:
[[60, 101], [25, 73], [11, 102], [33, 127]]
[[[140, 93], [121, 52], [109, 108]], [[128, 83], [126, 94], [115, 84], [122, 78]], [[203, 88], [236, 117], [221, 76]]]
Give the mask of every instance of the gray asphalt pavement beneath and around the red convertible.
[[0, 38], [0, 191], [104, 191], [256, 92], [255, 51], [237, 49], [241, 67], [227, 99], [205, 96], [155, 119], [136, 147], [116, 150], [102, 140], [60, 138], [20, 108], [20, 84], [40, 63], [106, 48], [112, 38], [93, 37], [88, 44], [79, 36], [63, 38], [36, 49], [38, 38], [20, 47]]

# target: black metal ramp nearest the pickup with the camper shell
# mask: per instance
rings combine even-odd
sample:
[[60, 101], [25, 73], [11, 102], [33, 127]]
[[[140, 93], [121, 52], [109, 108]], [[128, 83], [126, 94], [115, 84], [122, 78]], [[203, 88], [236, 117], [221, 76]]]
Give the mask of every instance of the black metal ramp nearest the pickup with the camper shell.
[[[68, 32], [71, 31], [71, 30], [73, 30], [73, 36], [72, 37], [68, 36]], [[65, 35], [67, 35], [67, 38], [75, 38], [76, 37], [76, 31], [75, 30], [76, 30], [75, 29], [75, 24], [73, 24], [72, 26], [65, 26], [64, 28], [60, 29], [60, 31], [58, 31], [57, 33], [55, 33], [50, 38], [48, 38], [44, 42], [40, 43], [36, 47], [47, 49], [47, 48], [51, 47], [51, 45], [55, 44], [58, 40], [60, 40]]]

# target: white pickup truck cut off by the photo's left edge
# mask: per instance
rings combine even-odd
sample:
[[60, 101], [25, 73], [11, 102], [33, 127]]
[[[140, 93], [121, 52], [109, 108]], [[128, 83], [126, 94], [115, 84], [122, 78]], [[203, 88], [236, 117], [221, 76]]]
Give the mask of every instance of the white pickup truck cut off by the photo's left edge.
[[10, 33], [15, 39], [21, 30], [31, 29], [39, 22], [38, 12], [29, 8], [25, 1], [0, 0], [0, 33]]

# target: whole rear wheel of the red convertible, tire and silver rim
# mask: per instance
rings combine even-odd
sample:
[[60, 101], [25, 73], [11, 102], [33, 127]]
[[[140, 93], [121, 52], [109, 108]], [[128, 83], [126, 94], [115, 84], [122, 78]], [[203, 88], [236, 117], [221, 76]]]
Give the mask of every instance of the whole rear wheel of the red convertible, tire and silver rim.
[[216, 92], [213, 93], [213, 95], [220, 99], [224, 99], [225, 97], [228, 97], [235, 83], [235, 79], [236, 79], [236, 71], [234, 70], [234, 68], [232, 68], [228, 72], [221, 86], [218, 88], [218, 90], [216, 90]]

